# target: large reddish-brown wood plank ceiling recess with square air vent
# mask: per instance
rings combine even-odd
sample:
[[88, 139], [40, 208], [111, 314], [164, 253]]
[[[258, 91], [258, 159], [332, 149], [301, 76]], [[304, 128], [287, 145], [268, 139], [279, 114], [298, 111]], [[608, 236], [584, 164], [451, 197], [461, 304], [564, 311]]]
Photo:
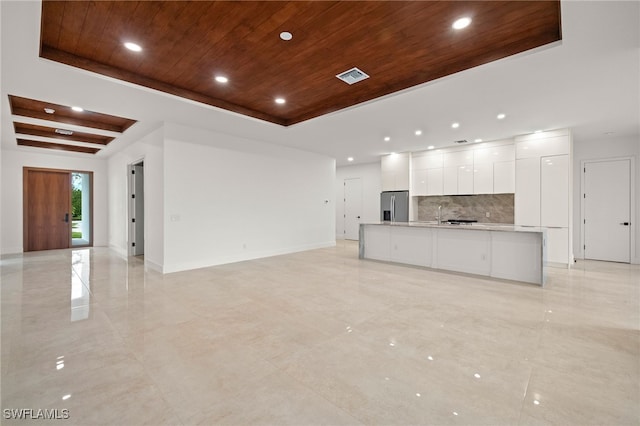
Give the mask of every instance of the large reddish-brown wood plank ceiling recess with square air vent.
[[560, 39], [559, 0], [45, 0], [40, 55], [287, 126]]

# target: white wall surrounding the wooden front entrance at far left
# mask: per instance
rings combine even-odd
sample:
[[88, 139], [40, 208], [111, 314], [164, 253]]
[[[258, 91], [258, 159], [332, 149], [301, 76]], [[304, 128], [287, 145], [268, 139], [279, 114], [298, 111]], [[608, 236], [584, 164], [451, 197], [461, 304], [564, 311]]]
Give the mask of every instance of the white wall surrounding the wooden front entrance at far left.
[[[38, 150], [39, 151], [39, 150]], [[107, 162], [75, 154], [2, 150], [2, 254], [22, 253], [22, 168], [93, 172], [93, 245], [107, 245]]]

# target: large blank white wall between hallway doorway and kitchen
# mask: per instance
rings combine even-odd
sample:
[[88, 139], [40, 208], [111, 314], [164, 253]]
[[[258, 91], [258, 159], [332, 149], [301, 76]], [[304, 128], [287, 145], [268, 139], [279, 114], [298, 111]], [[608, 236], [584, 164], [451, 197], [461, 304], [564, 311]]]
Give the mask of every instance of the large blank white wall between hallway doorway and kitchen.
[[335, 245], [334, 159], [170, 123], [164, 149], [164, 272]]

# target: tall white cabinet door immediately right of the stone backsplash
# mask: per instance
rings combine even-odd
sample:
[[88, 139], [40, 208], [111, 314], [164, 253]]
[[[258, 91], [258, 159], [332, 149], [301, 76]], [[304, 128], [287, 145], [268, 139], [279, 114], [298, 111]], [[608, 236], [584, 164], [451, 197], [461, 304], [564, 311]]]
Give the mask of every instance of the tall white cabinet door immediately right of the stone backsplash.
[[516, 160], [515, 223], [540, 226], [540, 159]]

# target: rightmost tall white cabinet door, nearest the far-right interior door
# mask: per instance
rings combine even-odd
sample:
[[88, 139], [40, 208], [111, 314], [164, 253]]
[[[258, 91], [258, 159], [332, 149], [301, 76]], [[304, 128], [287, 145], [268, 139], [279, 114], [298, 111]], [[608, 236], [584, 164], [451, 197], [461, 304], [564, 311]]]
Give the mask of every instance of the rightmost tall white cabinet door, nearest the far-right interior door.
[[540, 225], [569, 226], [569, 156], [540, 159]]

